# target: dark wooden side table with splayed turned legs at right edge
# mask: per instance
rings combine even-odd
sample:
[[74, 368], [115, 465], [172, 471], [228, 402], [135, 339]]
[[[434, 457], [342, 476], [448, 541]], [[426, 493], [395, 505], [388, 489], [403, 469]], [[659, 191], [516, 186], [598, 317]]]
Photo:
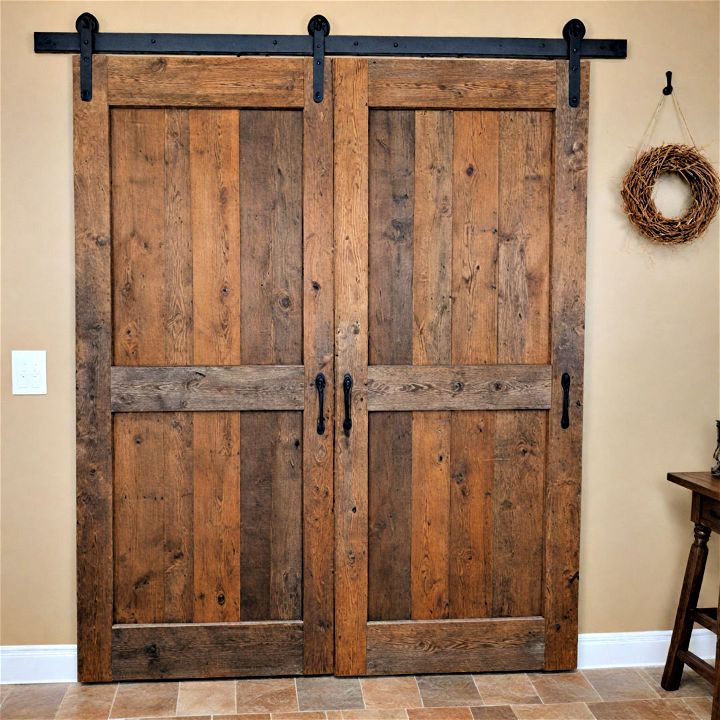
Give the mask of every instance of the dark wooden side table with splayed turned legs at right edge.
[[[720, 533], [720, 478], [709, 472], [668, 473], [670, 482], [692, 491], [690, 519], [695, 523], [695, 540], [690, 548], [685, 578], [680, 592], [675, 627], [661, 685], [665, 690], [680, 687], [683, 666], [689, 665], [713, 686], [712, 720], [720, 720], [720, 674], [709, 663], [688, 649], [693, 624], [697, 623], [718, 634], [718, 608], [698, 608], [698, 597], [705, 573], [707, 541], [711, 532]], [[719, 601], [720, 602], [720, 601]], [[716, 651], [716, 667], [720, 665], [720, 643]]]

